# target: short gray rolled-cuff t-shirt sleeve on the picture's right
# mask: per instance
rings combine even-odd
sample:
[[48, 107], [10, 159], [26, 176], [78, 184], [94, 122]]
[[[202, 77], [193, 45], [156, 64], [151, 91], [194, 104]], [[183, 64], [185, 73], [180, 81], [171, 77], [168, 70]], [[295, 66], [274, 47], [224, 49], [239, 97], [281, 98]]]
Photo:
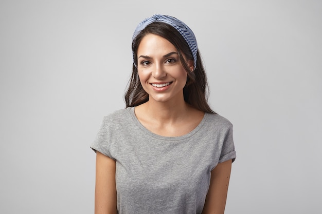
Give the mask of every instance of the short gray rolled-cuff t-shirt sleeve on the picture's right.
[[235, 145], [234, 145], [234, 140], [232, 138], [232, 124], [228, 127], [223, 145], [222, 145], [222, 150], [219, 158], [219, 163], [232, 160], [234, 162], [236, 159], [236, 151], [235, 151]]

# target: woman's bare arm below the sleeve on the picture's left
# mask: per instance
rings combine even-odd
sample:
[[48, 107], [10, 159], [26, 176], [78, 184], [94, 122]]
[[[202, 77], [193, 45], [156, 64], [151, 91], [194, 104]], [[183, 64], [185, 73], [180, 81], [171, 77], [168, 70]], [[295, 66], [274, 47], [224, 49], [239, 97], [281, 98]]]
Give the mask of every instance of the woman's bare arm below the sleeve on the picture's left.
[[96, 152], [95, 214], [116, 214], [115, 161]]

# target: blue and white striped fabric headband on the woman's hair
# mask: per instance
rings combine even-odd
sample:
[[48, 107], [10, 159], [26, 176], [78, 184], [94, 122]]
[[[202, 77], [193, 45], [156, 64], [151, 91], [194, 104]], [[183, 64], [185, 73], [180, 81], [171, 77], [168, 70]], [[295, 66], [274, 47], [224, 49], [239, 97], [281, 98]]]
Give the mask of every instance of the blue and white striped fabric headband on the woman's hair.
[[[198, 51], [197, 41], [195, 39], [195, 36], [194, 36], [192, 30], [185, 23], [183, 23], [182, 21], [178, 20], [175, 17], [169, 16], [169, 15], [155, 14], [149, 18], [146, 18], [145, 20], [140, 22], [140, 24], [138, 24], [138, 26], [136, 27], [136, 29], [133, 33], [133, 36], [132, 36], [132, 42], [134, 41], [137, 34], [139, 34], [139, 32], [141, 32], [141, 30], [145, 29], [147, 27], [147, 25], [154, 23], [154, 22], [167, 23], [167, 24], [171, 25], [172, 27], [174, 27], [184, 37], [185, 41], [187, 42], [187, 44], [191, 50], [191, 53], [193, 56], [193, 66], [195, 69], [196, 65], [197, 65], [197, 51]], [[135, 65], [135, 67], [137, 67], [137, 65], [135, 64], [134, 56], [135, 56], [135, 53], [133, 52], [133, 63]]]

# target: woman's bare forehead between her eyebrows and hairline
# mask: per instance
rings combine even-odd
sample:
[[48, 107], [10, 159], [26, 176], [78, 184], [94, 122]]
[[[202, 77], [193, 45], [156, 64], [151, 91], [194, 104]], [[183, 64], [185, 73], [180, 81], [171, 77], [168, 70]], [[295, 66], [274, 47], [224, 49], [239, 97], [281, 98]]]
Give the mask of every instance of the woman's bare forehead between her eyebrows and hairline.
[[147, 34], [145, 35], [137, 49], [137, 55], [140, 54], [164, 54], [171, 51], [176, 51], [176, 48], [172, 43], [170, 43], [166, 38], [155, 35]]

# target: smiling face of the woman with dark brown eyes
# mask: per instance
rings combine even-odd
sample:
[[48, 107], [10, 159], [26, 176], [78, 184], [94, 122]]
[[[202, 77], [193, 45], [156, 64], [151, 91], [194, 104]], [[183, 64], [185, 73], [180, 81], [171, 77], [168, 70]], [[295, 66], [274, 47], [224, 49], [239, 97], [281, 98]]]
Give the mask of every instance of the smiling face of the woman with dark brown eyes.
[[[193, 70], [193, 62], [187, 62]], [[184, 101], [187, 72], [176, 48], [165, 38], [148, 34], [137, 50], [137, 70], [149, 102]]]

